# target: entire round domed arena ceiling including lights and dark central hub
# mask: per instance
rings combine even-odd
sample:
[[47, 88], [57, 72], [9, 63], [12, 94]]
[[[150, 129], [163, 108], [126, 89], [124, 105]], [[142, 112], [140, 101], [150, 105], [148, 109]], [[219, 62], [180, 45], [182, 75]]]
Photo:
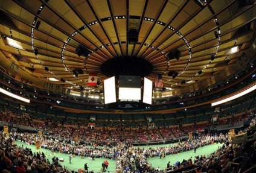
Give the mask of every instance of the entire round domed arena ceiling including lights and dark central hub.
[[[179, 95], [225, 81], [255, 58], [246, 52], [256, 37], [254, 1], [1, 0], [0, 8], [0, 65], [36, 87], [103, 91], [125, 69], [153, 82], [161, 74], [164, 89], [154, 92]], [[91, 72], [97, 86], [88, 86]]]

